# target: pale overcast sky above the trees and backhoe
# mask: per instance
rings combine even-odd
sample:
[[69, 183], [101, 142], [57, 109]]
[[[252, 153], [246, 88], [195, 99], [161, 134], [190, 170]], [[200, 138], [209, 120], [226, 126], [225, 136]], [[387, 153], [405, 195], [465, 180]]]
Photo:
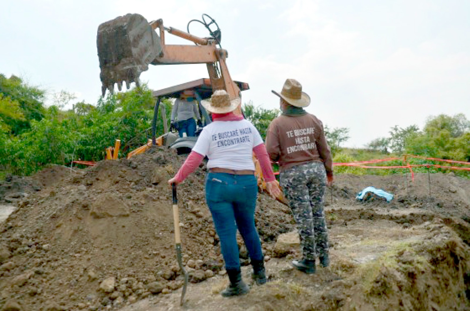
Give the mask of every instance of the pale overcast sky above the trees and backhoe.
[[[0, 73], [94, 104], [98, 25], [127, 13], [180, 30], [203, 13], [213, 17], [232, 78], [250, 85], [243, 102], [277, 108], [271, 90], [295, 78], [312, 99], [308, 112], [350, 129], [349, 147], [394, 125], [422, 127], [430, 115], [470, 118], [469, 0], [4, 1]], [[155, 90], [205, 77], [202, 64], [150, 65], [141, 75]]]

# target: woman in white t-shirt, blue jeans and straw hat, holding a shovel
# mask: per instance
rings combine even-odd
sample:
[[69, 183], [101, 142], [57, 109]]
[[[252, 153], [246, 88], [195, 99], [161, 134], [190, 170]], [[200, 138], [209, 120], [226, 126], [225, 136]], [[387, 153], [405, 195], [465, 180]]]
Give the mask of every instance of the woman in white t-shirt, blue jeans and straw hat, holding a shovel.
[[275, 197], [281, 191], [258, 130], [243, 116], [233, 113], [240, 105], [240, 99], [230, 101], [226, 91], [218, 90], [211, 100], [202, 101], [202, 104], [212, 113], [213, 122], [204, 127], [191, 154], [168, 183], [182, 182], [207, 156], [206, 202], [220, 238], [230, 280], [221, 294], [224, 297], [243, 295], [249, 288], [242, 280], [237, 228], [248, 249], [253, 279], [258, 285], [266, 283], [264, 256], [254, 218], [258, 183], [254, 176], [253, 152], [259, 160], [268, 192]]

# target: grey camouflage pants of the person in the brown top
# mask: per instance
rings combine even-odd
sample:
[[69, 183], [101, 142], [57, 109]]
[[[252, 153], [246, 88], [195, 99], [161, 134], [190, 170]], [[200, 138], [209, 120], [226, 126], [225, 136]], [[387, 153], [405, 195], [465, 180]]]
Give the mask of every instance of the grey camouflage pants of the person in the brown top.
[[328, 254], [328, 231], [323, 210], [326, 171], [321, 162], [293, 166], [281, 172], [281, 186], [297, 223], [305, 259]]

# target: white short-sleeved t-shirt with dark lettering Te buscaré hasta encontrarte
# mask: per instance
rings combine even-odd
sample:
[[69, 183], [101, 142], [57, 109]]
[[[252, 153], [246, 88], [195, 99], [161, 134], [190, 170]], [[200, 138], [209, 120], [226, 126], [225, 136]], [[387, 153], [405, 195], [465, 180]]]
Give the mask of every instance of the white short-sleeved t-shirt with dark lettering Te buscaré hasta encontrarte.
[[254, 170], [253, 148], [263, 140], [250, 121], [214, 121], [204, 127], [193, 151], [209, 158], [208, 168]]

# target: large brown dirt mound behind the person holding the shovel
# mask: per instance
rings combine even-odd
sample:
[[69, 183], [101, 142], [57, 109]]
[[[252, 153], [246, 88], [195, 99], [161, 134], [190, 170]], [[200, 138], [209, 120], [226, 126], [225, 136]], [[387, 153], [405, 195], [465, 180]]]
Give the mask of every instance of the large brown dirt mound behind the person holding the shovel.
[[[166, 181], [184, 159], [152, 148], [131, 160], [102, 161], [84, 174], [65, 171], [63, 182], [20, 202], [1, 228], [1, 245], [11, 256], [0, 263], [2, 301], [21, 296], [22, 310], [93, 309], [179, 288]], [[205, 171], [203, 164], [178, 188], [184, 262], [193, 282], [222, 267], [205, 206]], [[46, 181], [49, 172], [38, 179]], [[264, 194], [258, 200], [263, 240], [293, 228], [285, 206]], [[247, 264], [246, 249], [241, 254]], [[109, 278], [116, 290], [100, 289]]]

